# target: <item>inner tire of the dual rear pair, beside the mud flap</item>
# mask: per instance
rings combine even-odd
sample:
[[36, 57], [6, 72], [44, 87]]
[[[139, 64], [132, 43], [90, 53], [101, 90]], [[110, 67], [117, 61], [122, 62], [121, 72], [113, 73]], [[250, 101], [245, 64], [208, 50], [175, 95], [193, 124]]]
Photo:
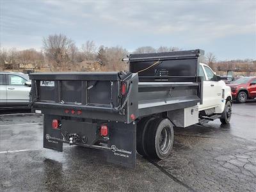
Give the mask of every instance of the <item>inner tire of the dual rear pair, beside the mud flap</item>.
[[146, 116], [141, 118], [140, 122], [137, 124], [136, 149], [141, 156], [147, 156], [147, 151], [145, 150], [146, 132], [148, 130], [148, 125], [150, 125], [150, 122], [154, 119], [155, 118], [152, 116]]

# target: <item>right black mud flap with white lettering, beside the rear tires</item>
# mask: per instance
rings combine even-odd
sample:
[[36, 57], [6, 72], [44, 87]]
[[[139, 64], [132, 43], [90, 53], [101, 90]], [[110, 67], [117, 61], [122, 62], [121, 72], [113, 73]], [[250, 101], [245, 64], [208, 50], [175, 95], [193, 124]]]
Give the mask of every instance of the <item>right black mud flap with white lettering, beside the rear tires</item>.
[[135, 168], [136, 163], [136, 123], [124, 124], [123, 122], [109, 123], [109, 141], [107, 161]]

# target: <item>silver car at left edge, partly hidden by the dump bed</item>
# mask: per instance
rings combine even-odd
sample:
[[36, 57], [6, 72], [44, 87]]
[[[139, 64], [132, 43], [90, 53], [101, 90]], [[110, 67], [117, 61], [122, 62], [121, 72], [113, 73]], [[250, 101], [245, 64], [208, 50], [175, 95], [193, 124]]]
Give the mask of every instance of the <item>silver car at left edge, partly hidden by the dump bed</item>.
[[0, 72], [0, 108], [28, 108], [30, 90], [27, 74]]

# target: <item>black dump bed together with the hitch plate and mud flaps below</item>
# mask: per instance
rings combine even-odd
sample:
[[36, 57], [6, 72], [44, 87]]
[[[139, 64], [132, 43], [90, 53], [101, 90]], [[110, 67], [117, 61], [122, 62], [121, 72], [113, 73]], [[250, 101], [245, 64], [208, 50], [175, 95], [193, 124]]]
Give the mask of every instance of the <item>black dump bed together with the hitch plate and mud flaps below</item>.
[[[31, 106], [44, 113], [44, 147], [62, 143], [106, 150], [109, 162], [134, 167], [142, 116], [202, 102], [202, 50], [131, 54], [130, 72], [33, 73]], [[58, 120], [52, 129], [52, 120]], [[100, 126], [108, 125], [108, 136]]]

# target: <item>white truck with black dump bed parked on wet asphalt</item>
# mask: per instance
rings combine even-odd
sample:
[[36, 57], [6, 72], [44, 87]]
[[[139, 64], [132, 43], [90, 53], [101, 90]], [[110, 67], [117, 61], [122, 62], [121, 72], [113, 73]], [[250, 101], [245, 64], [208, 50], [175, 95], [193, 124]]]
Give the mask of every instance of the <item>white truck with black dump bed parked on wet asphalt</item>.
[[63, 143], [106, 150], [134, 167], [169, 156], [173, 127], [231, 118], [230, 87], [200, 63], [202, 50], [131, 54], [130, 72], [34, 73], [31, 105], [44, 113], [44, 147]]

